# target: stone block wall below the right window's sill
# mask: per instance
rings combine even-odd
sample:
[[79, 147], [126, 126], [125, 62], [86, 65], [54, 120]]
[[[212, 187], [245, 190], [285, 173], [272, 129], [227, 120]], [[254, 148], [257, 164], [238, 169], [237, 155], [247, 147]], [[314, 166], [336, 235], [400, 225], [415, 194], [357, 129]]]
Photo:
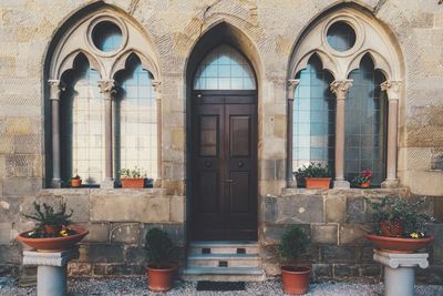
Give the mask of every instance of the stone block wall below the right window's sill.
[[[299, 225], [310, 236], [307, 254], [300, 261], [313, 264], [315, 280], [381, 279], [382, 268], [372, 259], [373, 246], [363, 237], [374, 228], [371, 208], [364, 197], [401, 196], [418, 198], [409, 190], [284, 190], [279, 196], [262, 197], [264, 216], [260, 233], [262, 266], [268, 275], [278, 275], [281, 258], [278, 242], [288, 225]], [[426, 283], [443, 280], [443, 216], [441, 198], [425, 197], [424, 210], [436, 217], [429, 226], [435, 236], [430, 252], [431, 267], [421, 271]], [[436, 204], [439, 203], [439, 204]], [[440, 210], [437, 210], [440, 208]]]

